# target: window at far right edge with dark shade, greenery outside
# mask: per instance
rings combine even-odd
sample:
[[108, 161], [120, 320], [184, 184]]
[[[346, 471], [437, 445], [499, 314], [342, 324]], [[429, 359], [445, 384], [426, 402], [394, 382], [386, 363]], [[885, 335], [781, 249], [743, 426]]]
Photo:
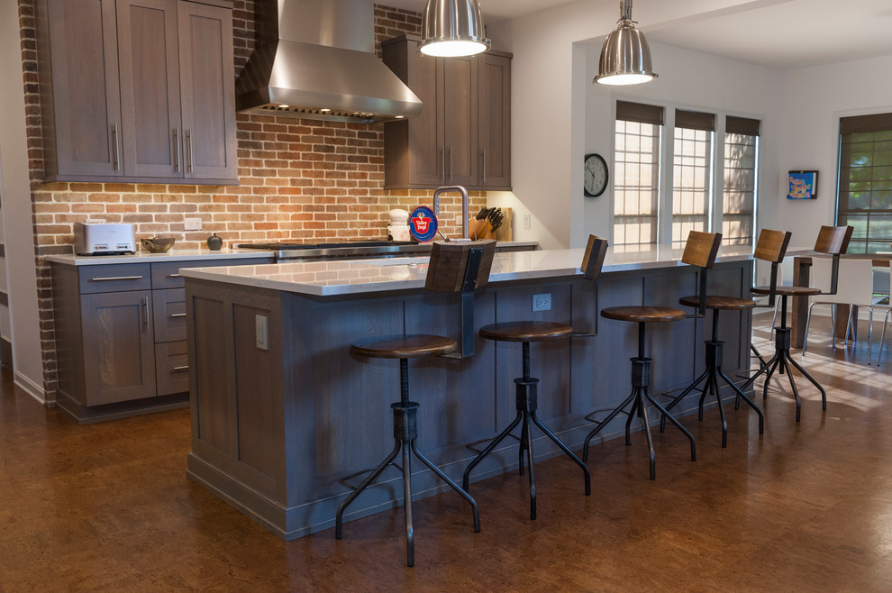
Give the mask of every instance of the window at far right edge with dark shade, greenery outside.
[[836, 224], [854, 227], [850, 253], [889, 251], [892, 242], [892, 114], [840, 119]]

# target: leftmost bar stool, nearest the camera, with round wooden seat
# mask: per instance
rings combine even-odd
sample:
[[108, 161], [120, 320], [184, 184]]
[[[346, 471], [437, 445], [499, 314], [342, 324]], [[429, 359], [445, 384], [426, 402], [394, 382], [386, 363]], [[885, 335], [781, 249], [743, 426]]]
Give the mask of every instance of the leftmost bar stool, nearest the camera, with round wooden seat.
[[[431, 263], [425, 288], [437, 292], [463, 292], [473, 295], [476, 288], [487, 284], [489, 270], [492, 267], [493, 254], [496, 251], [495, 241], [434, 243], [431, 252]], [[456, 280], [456, 278], [459, 278]], [[414, 454], [429, 470], [445, 482], [450, 488], [468, 501], [474, 519], [474, 531], [480, 531], [480, 514], [477, 502], [466, 489], [462, 489], [449, 476], [443, 473], [422, 452], [416, 443], [418, 438], [418, 403], [409, 401], [409, 359], [427, 358], [448, 355], [458, 349], [455, 340], [441, 335], [410, 334], [390, 335], [360, 340], [350, 345], [350, 353], [355, 356], [398, 359], [400, 375], [400, 399], [390, 405], [394, 414], [394, 448], [387, 454], [376, 468], [370, 470], [366, 479], [359, 486], [353, 487], [347, 479], [356, 477], [365, 471], [341, 479], [341, 483], [352, 488], [335, 517], [334, 536], [341, 539], [341, 526], [344, 511], [363, 490], [369, 487], [388, 466], [394, 465], [403, 473], [406, 566], [414, 566], [414, 527], [412, 525], [412, 466], [411, 455]], [[402, 466], [397, 465], [396, 455], [403, 453]]]

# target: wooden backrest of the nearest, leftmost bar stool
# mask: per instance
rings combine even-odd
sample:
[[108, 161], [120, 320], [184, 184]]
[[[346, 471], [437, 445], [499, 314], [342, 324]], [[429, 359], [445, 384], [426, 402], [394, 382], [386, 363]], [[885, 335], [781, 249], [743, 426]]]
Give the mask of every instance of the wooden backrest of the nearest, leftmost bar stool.
[[[476, 260], [472, 252], [477, 252]], [[468, 292], [487, 286], [489, 271], [493, 267], [496, 242], [434, 242], [431, 247], [431, 263], [427, 269], [424, 287], [433, 292]], [[477, 269], [472, 269], [478, 263]], [[472, 266], [469, 268], [469, 263]]]

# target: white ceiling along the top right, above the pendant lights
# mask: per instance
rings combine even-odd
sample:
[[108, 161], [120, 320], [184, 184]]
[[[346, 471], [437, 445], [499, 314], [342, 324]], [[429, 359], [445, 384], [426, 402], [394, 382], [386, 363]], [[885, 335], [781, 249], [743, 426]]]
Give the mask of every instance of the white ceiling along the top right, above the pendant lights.
[[[423, 11], [424, 0], [377, 0], [384, 5]], [[852, 59], [892, 55], [892, 0], [753, 0], [725, 2], [704, 10], [704, 0], [671, 2], [669, 22], [647, 18], [654, 0], [634, 4], [633, 18], [648, 41], [658, 41], [768, 68], [793, 69]], [[569, 4], [569, 0], [480, 0], [484, 21], [501, 21]], [[599, 7], [619, 0], [596, 0]], [[605, 23], [595, 37], [613, 28]]]

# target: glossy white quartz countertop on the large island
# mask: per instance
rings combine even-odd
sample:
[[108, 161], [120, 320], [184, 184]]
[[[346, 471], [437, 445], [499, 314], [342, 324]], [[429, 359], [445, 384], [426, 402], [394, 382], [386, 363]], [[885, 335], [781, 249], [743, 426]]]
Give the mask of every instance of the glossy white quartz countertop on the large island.
[[[496, 253], [491, 283], [581, 275], [583, 249]], [[604, 272], [683, 266], [681, 249], [607, 250]], [[716, 262], [750, 260], [751, 247], [728, 247]], [[283, 262], [258, 266], [182, 269], [186, 278], [271, 288], [313, 296], [336, 296], [424, 287], [428, 257], [380, 260]]]

